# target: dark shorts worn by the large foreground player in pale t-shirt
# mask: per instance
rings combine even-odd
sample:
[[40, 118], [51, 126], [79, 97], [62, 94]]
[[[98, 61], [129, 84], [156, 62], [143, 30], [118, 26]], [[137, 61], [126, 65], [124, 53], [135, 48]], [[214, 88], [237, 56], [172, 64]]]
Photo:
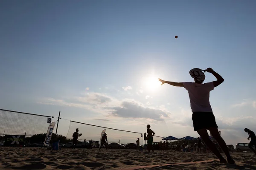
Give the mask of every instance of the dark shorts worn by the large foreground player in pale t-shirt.
[[210, 127], [218, 128], [212, 112], [193, 112], [192, 120], [195, 131], [209, 129]]

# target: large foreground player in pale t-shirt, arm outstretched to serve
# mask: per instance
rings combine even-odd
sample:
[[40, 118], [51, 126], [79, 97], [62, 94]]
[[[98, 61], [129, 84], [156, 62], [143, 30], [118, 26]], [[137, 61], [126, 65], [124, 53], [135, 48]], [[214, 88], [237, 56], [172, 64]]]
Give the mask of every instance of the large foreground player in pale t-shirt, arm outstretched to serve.
[[[212, 153], [214, 153], [218, 159], [220, 159], [221, 163], [228, 162], [230, 164], [234, 164], [235, 161], [230, 156], [227, 144], [218, 132], [218, 126], [209, 102], [210, 91], [224, 82], [224, 79], [218, 73], [213, 71], [212, 68], [207, 68], [206, 71], [212, 73], [217, 80], [203, 83], [205, 76], [200, 77], [200, 79], [194, 79], [195, 82], [168, 82], [162, 79], [158, 80], [162, 82], [162, 85], [167, 83], [177, 87], [184, 87], [188, 91], [194, 130], [198, 132], [201, 139], [205, 142], [205, 144], [207, 144], [207, 147], [209, 147]], [[227, 161], [215, 147], [215, 144], [209, 139], [207, 129], [210, 131], [210, 133], [212, 133], [212, 137], [218, 142], [219, 146], [227, 156]]]

